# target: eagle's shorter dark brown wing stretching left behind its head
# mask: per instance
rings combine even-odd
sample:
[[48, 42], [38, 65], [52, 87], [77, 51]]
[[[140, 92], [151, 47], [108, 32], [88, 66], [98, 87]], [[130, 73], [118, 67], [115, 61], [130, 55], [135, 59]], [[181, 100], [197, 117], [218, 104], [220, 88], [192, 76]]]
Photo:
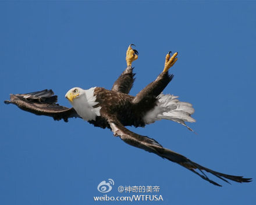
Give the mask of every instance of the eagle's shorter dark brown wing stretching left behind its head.
[[[70, 117], [80, 117], [76, 110], [57, 104], [58, 96], [54, 95], [51, 89], [30, 92], [26, 94], [10, 94], [10, 100], [5, 100], [6, 104], [12, 103], [20, 109], [38, 116], [53, 117], [54, 120], [63, 119], [67, 122]], [[81, 117], [80, 117], [81, 118]]]

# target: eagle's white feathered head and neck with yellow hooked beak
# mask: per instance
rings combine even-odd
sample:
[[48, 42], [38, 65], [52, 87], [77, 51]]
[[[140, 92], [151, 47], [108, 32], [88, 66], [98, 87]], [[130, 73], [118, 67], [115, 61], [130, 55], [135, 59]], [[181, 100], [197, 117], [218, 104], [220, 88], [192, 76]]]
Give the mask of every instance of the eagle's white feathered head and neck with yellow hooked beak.
[[94, 107], [98, 104], [94, 95], [94, 89], [95, 87], [90, 89], [76, 87], [67, 91], [65, 95], [79, 116], [87, 121], [95, 120], [97, 116], [101, 116], [99, 112], [101, 106]]

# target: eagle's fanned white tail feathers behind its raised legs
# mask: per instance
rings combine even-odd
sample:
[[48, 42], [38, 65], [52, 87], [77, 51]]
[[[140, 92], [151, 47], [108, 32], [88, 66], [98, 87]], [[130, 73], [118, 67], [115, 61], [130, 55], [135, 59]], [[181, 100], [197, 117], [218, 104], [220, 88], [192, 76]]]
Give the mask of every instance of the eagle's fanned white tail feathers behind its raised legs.
[[193, 131], [188, 127], [185, 122], [194, 123], [195, 119], [191, 117], [194, 113], [194, 108], [190, 103], [180, 102], [174, 95], [158, 95], [158, 105], [144, 116], [146, 124], [154, 123], [156, 120], [172, 120], [180, 123]]

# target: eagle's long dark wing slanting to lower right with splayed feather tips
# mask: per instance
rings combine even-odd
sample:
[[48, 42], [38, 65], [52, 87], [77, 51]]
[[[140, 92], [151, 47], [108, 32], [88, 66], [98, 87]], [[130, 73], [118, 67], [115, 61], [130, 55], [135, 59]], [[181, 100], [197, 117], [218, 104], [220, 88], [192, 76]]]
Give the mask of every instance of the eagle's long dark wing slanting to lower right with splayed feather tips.
[[[182, 156], [179, 153], [173, 152], [172, 150], [163, 148], [157, 141], [152, 138], [148, 138], [147, 136], [138, 135], [130, 130], [127, 130], [116, 118], [112, 118], [106, 116], [108, 119], [108, 123], [113, 131], [115, 136], [120, 136], [120, 138], [129, 145], [136, 146], [137, 148], [144, 149], [147, 152], [152, 152], [157, 154], [158, 156], [173, 161], [181, 166], [187, 168], [188, 170], [194, 172], [199, 175], [202, 179], [214, 184], [216, 186], [221, 186], [218, 183], [212, 181], [207, 177], [204, 171], [209, 172], [216, 177], [222, 179], [223, 181], [229, 183], [226, 179], [230, 179], [236, 182], [250, 182], [251, 178], [243, 178], [233, 175], [222, 174], [220, 172], [216, 172], [210, 170], [209, 168], [202, 167], [201, 165], [194, 163], [187, 157]], [[225, 179], [226, 178], [226, 179]]]

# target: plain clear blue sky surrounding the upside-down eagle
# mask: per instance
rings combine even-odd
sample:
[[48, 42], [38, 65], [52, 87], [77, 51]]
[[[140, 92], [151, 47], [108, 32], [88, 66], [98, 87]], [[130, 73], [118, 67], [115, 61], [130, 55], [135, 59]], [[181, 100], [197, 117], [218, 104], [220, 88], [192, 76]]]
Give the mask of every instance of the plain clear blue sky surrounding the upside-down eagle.
[[[9, 93], [53, 89], [68, 106], [72, 87], [105, 87], [125, 69], [136, 44], [136, 95], [178, 51], [165, 93], [195, 108], [195, 135], [172, 121], [130, 128], [226, 174], [255, 178], [255, 1], [0, 2], [1, 102]], [[69, 123], [0, 103], [0, 203], [99, 204], [99, 182], [159, 186], [163, 202], [255, 204], [255, 182], [209, 184], [185, 168], [133, 148], [80, 119]], [[109, 202], [109, 204], [130, 202]]]

